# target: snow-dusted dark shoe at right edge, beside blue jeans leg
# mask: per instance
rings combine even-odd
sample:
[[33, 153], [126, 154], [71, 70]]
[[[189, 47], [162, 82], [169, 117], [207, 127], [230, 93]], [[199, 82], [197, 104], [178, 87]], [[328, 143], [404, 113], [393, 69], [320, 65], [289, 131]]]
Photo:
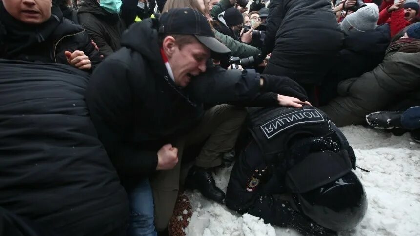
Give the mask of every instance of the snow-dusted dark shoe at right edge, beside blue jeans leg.
[[366, 116], [367, 123], [376, 129], [401, 128], [403, 111], [378, 111]]

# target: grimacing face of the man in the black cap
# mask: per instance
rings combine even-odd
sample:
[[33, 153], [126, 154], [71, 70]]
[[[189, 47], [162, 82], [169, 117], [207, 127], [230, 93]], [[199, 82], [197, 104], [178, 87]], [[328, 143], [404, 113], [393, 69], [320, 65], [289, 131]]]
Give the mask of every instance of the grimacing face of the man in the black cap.
[[168, 61], [175, 84], [181, 87], [187, 86], [191, 77], [206, 71], [206, 61], [209, 58], [210, 50], [196, 39], [194, 43], [184, 45], [181, 49], [174, 46]]

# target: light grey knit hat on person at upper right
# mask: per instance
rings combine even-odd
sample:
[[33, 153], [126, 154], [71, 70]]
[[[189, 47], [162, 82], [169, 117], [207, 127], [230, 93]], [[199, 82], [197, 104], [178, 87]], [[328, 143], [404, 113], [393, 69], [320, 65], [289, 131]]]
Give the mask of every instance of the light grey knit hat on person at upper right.
[[355, 32], [372, 31], [376, 28], [376, 23], [379, 19], [379, 8], [374, 3], [366, 3], [352, 13], [341, 23], [341, 30], [346, 35], [351, 35]]

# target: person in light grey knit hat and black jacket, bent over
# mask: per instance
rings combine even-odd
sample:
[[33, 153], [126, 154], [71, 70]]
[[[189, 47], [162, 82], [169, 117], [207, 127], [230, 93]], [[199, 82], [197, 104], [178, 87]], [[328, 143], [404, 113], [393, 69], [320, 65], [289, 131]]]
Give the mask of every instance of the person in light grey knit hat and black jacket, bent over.
[[319, 105], [338, 96], [338, 83], [361, 76], [383, 61], [391, 40], [390, 27], [388, 24], [377, 27], [378, 18], [379, 8], [374, 3], [366, 3], [344, 18], [340, 25], [345, 35], [343, 48], [338, 52], [336, 66], [320, 86]]

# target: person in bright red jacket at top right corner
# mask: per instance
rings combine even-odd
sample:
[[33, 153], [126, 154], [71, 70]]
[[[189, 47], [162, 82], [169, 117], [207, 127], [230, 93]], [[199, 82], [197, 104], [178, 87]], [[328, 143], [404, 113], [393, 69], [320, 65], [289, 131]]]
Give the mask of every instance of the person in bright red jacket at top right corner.
[[384, 0], [380, 7], [378, 25], [389, 23], [391, 25], [391, 37], [396, 35], [406, 26], [418, 22], [416, 17], [419, 12], [417, 0], [401, 0], [394, 4], [394, 0]]

